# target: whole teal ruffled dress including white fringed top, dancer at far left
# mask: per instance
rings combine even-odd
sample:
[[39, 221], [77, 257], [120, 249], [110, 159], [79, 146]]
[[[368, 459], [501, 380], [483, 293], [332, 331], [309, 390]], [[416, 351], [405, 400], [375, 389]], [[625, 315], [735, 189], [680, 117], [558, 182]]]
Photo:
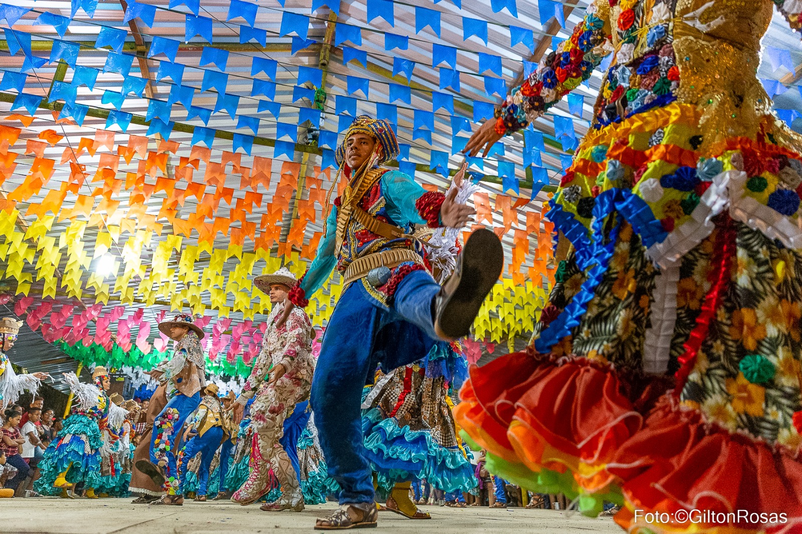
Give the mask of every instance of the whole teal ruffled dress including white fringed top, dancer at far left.
[[75, 394], [75, 405], [39, 462], [42, 475], [34, 483], [34, 489], [43, 495], [62, 492], [62, 487], [54, 486], [58, 478], [71, 484], [83, 483], [87, 489], [95, 489], [103, 482], [101, 427], [107, 424], [111, 401], [99, 387], [79, 382], [74, 373], [66, 373], [64, 377]]

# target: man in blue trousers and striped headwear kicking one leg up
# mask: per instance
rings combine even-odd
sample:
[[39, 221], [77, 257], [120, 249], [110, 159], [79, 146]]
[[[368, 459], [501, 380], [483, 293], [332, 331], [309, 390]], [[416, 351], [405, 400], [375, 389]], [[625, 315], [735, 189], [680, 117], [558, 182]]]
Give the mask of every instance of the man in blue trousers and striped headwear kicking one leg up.
[[414, 362], [437, 339], [467, 335], [504, 265], [496, 235], [480, 230], [465, 243], [452, 277], [443, 287], [435, 282], [412, 225], [462, 228], [474, 210], [456, 203], [456, 190], [448, 197], [427, 192], [410, 176], [382, 168], [398, 154], [389, 122], [354, 120], [336, 152], [346, 188], [334, 200], [317, 256], [290, 291], [293, 305], [306, 306], [306, 295], [335, 267], [344, 279], [312, 382], [321, 447], [342, 488], [340, 508], [318, 520], [320, 530], [376, 524], [360, 418], [368, 374], [377, 364], [390, 370]]

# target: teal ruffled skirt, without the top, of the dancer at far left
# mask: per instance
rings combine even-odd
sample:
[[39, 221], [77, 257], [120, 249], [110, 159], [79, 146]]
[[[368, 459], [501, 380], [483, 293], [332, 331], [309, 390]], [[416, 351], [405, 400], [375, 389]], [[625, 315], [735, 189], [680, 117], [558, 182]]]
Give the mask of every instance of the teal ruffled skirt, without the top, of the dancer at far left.
[[58, 495], [61, 488], [54, 487], [53, 483], [67, 469], [65, 478], [68, 483], [83, 483], [87, 489], [99, 487], [103, 483], [99, 452], [102, 446], [97, 421], [83, 414], [71, 415], [45, 450], [39, 462], [42, 475], [34, 483], [34, 489], [43, 495]]

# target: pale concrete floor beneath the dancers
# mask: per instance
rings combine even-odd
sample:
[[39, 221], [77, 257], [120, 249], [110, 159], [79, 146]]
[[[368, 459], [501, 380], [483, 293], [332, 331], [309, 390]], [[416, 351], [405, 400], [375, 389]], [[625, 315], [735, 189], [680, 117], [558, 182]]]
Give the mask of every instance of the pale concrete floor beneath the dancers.
[[[60, 500], [0, 499], [2, 534], [228, 534], [245, 532], [314, 532], [314, 518], [333, 511], [334, 503], [308, 506], [303, 512], [261, 512], [257, 506], [231, 502], [193, 503], [183, 507], [148, 508], [130, 499]], [[413, 534], [527, 534], [621, 531], [606, 517], [523, 508], [445, 508], [424, 506], [431, 520], [407, 520], [379, 512], [379, 528], [371, 532]]]

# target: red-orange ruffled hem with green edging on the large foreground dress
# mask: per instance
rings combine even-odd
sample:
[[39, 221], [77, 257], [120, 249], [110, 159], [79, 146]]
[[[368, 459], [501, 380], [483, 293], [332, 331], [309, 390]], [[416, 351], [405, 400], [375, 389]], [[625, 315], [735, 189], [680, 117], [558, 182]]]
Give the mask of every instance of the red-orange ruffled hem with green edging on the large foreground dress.
[[457, 422], [491, 471], [530, 491], [589, 516], [622, 504], [628, 532], [802, 532], [802, 459], [705, 423], [666, 379], [528, 353], [470, 374]]

